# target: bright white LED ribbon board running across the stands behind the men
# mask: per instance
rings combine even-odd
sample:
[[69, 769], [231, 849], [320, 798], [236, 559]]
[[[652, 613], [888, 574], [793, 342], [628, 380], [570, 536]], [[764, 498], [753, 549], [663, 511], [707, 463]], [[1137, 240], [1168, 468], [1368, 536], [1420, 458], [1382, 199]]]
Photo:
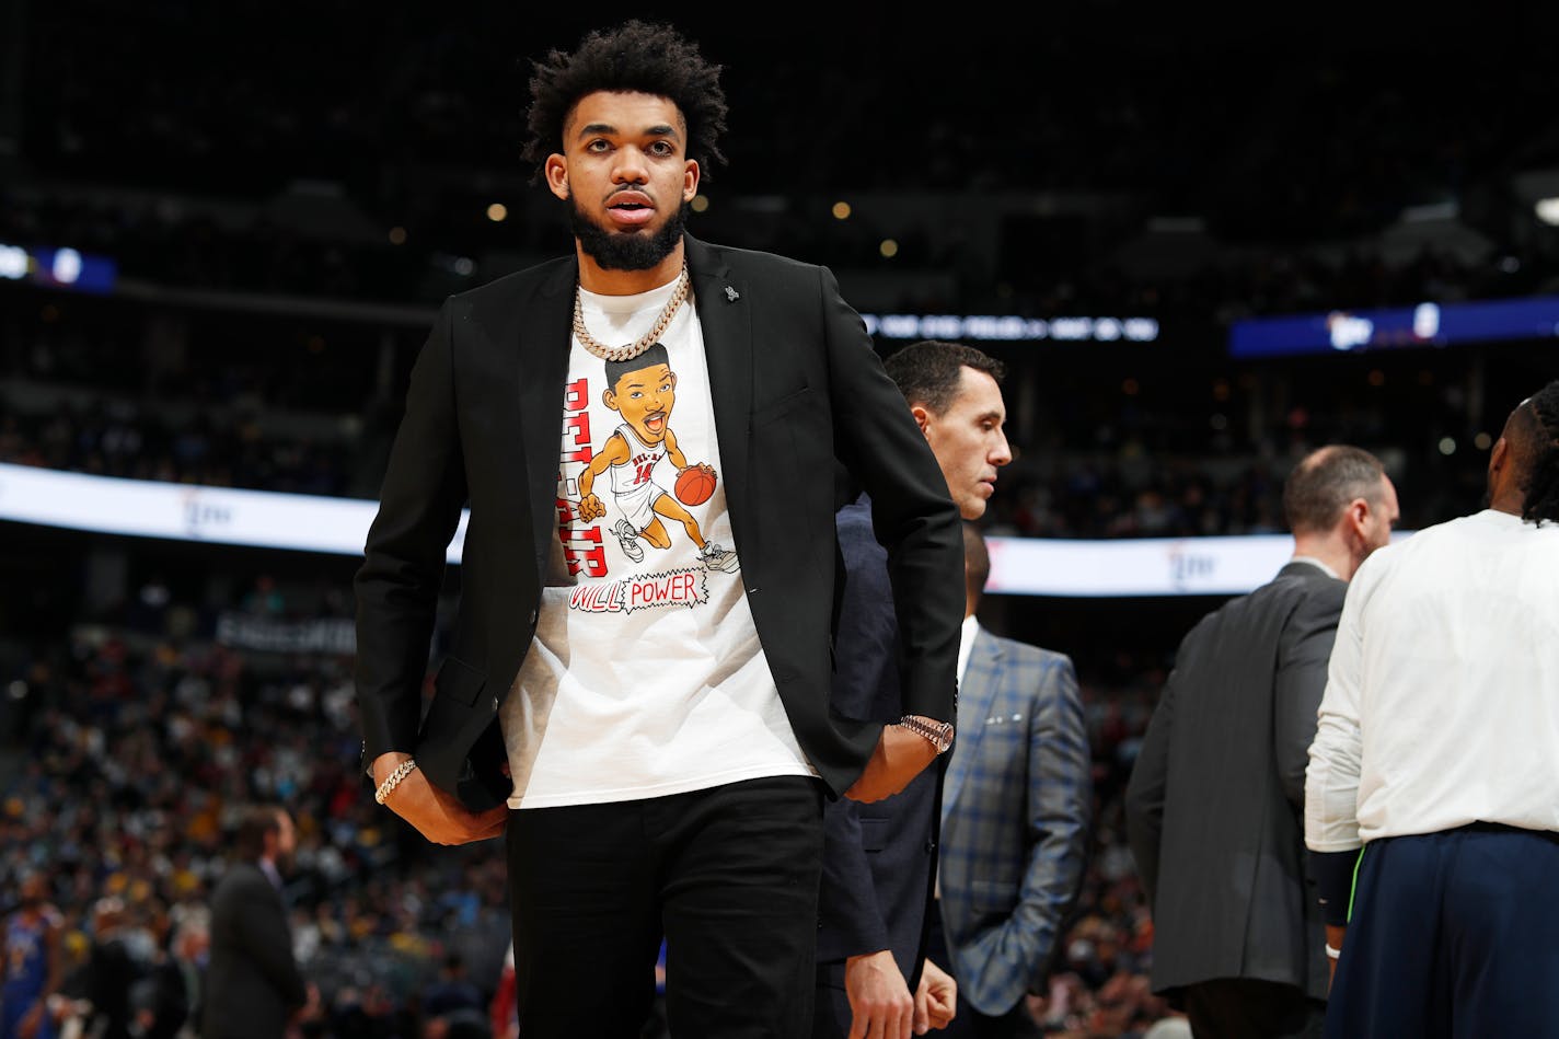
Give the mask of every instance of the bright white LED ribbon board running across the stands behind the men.
[[[192, 487], [0, 463], [0, 521], [207, 544], [362, 555], [379, 504], [359, 498]], [[469, 513], [447, 562], [460, 563]], [[1397, 532], [1394, 537], [1406, 537]], [[1239, 594], [1294, 552], [1286, 535], [1045, 540], [996, 537], [990, 594], [1112, 598]]]

